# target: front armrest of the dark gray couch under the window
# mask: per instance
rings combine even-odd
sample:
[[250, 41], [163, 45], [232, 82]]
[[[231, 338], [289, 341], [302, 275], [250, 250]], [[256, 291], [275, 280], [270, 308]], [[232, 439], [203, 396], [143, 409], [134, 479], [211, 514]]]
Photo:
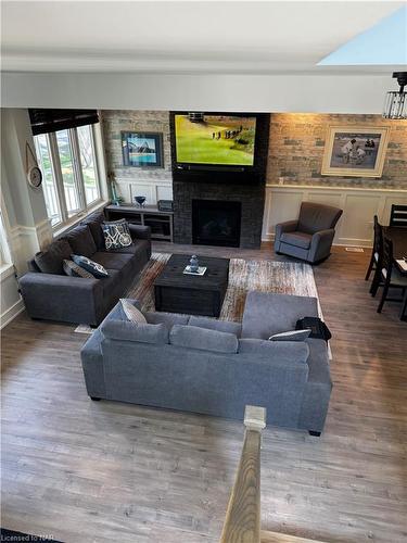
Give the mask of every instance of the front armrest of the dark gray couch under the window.
[[31, 318], [96, 326], [103, 317], [100, 279], [28, 273], [18, 283]]

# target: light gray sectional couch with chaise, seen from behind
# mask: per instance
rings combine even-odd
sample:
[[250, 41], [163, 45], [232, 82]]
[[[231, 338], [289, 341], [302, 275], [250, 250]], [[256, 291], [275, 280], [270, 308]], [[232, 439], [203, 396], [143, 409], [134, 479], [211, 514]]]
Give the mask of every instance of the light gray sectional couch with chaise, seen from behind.
[[148, 313], [135, 326], [117, 304], [81, 350], [88, 394], [238, 419], [260, 405], [269, 424], [319, 434], [332, 387], [326, 342], [267, 341], [316, 315], [314, 298], [251, 292], [242, 324]]

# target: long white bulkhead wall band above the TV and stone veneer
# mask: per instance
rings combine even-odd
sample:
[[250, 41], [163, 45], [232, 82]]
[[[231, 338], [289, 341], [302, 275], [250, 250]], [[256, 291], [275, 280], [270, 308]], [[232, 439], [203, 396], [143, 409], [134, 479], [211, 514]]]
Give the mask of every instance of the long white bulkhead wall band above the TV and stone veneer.
[[5, 108], [381, 113], [389, 75], [3, 73]]

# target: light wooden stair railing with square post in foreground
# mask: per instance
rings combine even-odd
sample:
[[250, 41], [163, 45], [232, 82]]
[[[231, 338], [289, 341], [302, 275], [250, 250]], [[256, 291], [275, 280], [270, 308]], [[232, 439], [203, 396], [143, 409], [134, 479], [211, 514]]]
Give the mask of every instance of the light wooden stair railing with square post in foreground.
[[220, 543], [260, 543], [260, 443], [266, 409], [246, 405], [243, 450]]

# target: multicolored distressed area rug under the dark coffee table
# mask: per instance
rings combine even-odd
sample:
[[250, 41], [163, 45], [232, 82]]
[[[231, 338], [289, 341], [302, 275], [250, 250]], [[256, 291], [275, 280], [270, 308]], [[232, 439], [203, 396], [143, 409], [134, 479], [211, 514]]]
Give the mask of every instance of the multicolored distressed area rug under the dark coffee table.
[[[139, 300], [142, 311], [154, 311], [153, 282], [169, 257], [168, 253], [153, 253], [149, 264], [127, 292], [127, 298]], [[241, 321], [246, 295], [251, 290], [318, 298], [309, 264], [231, 258], [229, 286], [219, 318]]]

